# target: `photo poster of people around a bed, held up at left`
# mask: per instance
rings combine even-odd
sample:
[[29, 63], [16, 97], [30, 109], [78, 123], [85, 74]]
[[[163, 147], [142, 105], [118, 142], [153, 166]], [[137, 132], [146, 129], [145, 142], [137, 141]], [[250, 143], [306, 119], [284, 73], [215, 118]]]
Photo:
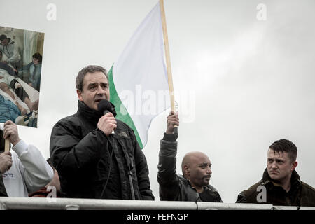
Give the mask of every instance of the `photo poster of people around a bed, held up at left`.
[[0, 25], [0, 123], [37, 127], [44, 36]]

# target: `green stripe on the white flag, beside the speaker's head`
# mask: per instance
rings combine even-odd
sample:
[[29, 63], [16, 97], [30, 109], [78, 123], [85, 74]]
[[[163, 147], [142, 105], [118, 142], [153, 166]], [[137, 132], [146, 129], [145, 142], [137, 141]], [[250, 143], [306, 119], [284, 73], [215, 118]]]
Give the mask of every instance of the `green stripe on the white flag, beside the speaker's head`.
[[[115, 84], [113, 82], [113, 66], [111, 66], [111, 70], [109, 70], [109, 94], [111, 95], [111, 102], [115, 105], [117, 116], [116, 118], [118, 120], [123, 121], [129, 127], [134, 130], [134, 134], [137, 137], [137, 141], [139, 143], [140, 148], [144, 148], [142, 141], [140, 139], [137, 127], [134, 125], [134, 121], [130, 117], [130, 114], [128, 113], [127, 109], [125, 108], [123, 102], [121, 102], [118, 93], [116, 91]], [[126, 114], [121, 113], [120, 111], [125, 111]]]

